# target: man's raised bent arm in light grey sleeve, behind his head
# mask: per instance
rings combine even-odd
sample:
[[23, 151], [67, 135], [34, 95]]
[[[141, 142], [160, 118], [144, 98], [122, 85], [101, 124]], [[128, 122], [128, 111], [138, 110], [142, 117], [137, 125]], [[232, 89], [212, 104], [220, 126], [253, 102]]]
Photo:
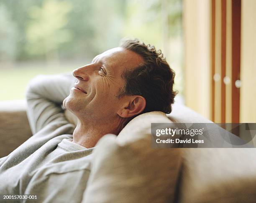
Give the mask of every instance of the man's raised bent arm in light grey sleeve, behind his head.
[[61, 104], [76, 78], [72, 74], [38, 75], [26, 91], [28, 121], [35, 134], [53, 121], [66, 120]]

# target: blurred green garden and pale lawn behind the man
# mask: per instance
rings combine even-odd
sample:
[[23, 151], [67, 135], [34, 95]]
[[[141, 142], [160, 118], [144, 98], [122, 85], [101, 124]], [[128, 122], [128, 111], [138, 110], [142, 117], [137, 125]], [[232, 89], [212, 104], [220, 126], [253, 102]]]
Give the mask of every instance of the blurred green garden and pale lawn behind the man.
[[182, 0], [0, 0], [0, 100], [38, 74], [72, 71], [123, 37], [161, 49], [183, 93]]

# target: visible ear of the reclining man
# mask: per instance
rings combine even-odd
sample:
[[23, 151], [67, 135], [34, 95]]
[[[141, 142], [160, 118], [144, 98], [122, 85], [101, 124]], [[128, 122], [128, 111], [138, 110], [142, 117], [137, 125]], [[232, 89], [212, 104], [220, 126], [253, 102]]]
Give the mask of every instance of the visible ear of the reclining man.
[[117, 114], [122, 118], [129, 118], [140, 114], [146, 107], [146, 99], [139, 95], [128, 96]]

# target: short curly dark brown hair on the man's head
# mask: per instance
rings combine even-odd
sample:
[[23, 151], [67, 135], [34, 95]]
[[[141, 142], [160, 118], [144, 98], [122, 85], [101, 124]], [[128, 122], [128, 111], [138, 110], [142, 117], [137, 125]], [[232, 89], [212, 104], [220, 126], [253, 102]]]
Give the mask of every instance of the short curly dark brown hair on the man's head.
[[121, 40], [120, 47], [141, 55], [144, 63], [133, 70], [124, 71], [122, 77], [125, 79], [125, 86], [118, 93], [118, 98], [124, 95], [141, 95], [146, 99], [146, 108], [142, 113], [171, 113], [171, 105], [177, 94], [173, 90], [175, 73], [161, 50], [156, 50], [154, 45], [145, 45], [138, 39]]

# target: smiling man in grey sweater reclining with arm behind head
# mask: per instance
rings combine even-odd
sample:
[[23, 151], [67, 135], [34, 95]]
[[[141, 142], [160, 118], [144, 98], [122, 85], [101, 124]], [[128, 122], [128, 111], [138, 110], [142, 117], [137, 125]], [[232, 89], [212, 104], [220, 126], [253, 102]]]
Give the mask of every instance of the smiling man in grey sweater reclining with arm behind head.
[[[73, 76], [31, 81], [26, 97], [33, 136], [0, 159], [0, 194], [81, 202], [97, 141], [118, 135], [141, 113], [171, 112], [174, 72], [161, 52], [138, 40], [124, 40]], [[62, 102], [77, 117], [77, 126], [65, 118]]]

